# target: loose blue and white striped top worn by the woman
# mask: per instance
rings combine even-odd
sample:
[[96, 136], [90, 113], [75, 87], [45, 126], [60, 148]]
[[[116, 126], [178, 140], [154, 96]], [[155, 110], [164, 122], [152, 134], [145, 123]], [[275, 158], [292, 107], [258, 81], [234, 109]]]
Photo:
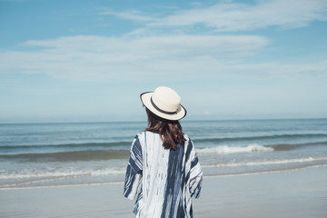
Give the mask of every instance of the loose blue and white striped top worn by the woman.
[[166, 150], [159, 134], [135, 136], [124, 182], [135, 217], [193, 217], [191, 198], [200, 195], [203, 172], [193, 142], [184, 138], [184, 145]]

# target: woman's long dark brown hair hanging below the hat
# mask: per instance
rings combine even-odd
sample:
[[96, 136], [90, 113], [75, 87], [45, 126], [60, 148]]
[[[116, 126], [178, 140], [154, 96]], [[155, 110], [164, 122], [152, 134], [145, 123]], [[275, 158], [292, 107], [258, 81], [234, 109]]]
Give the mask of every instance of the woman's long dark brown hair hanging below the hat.
[[179, 121], [165, 120], [145, 107], [148, 116], [149, 127], [147, 131], [154, 131], [160, 134], [165, 149], [176, 149], [177, 144], [183, 145], [186, 141], [183, 137], [182, 125]]

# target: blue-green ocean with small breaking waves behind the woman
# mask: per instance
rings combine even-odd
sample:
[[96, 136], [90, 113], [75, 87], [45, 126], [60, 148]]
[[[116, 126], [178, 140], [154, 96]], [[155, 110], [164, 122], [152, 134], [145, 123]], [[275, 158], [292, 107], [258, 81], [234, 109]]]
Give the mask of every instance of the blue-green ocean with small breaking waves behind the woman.
[[[327, 165], [327, 119], [181, 121], [203, 175]], [[0, 124], [0, 190], [123, 183], [146, 122]]]

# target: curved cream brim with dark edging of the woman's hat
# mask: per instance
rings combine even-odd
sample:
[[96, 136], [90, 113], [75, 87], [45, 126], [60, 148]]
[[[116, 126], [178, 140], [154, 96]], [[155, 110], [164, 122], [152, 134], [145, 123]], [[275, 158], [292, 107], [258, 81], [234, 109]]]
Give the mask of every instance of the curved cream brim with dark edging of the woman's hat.
[[147, 92], [140, 95], [142, 103], [152, 113], [156, 114], [159, 117], [162, 117], [163, 119], [171, 120], [171, 121], [181, 120], [186, 115], [186, 110], [182, 104], [180, 104], [180, 107], [177, 109], [177, 112], [175, 114], [164, 114], [158, 111], [157, 109], [154, 108], [154, 105], [151, 103], [152, 94], [153, 92]]

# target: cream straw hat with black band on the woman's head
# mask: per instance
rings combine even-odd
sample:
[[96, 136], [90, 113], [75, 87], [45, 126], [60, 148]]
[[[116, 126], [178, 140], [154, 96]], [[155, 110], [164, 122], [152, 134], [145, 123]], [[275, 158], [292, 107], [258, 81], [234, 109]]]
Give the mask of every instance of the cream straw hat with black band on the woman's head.
[[154, 92], [143, 93], [140, 97], [147, 109], [163, 119], [176, 121], [186, 115], [180, 95], [169, 87], [160, 86]]

